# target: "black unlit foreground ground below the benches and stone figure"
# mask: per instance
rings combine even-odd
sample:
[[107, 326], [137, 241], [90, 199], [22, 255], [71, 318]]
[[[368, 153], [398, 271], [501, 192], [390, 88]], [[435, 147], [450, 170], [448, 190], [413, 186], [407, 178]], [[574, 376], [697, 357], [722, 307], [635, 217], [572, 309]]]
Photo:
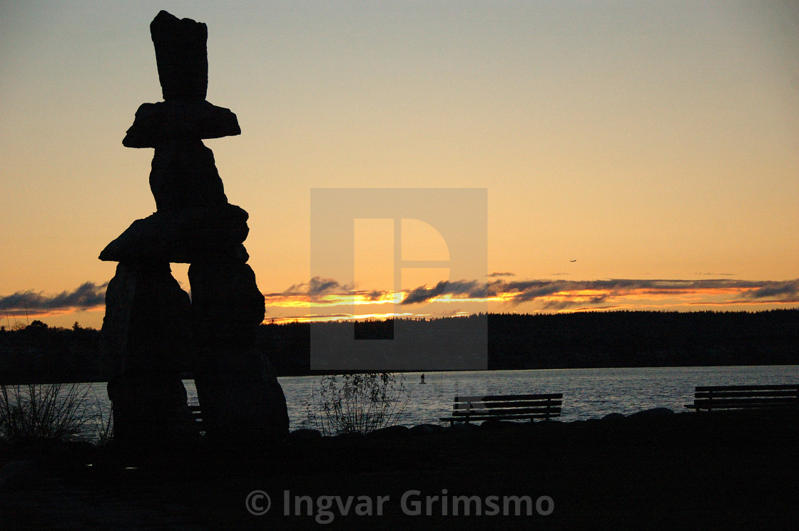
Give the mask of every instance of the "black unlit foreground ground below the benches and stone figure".
[[[685, 413], [396, 429], [296, 437], [272, 455], [213, 461], [5, 449], [0, 466], [14, 461], [22, 472], [0, 489], [0, 529], [797, 529], [797, 421], [799, 414]], [[263, 516], [246, 509], [254, 490], [271, 497]], [[310, 516], [307, 499], [296, 514], [297, 496], [312, 500]], [[340, 497], [341, 507], [323, 496]], [[437, 500], [425, 514], [428, 496], [447, 497], [446, 512]], [[459, 496], [476, 497], [469, 516]], [[515, 515], [514, 496], [530, 497], [531, 515], [524, 498]], [[382, 515], [378, 497], [388, 497]], [[554, 508], [548, 498], [539, 505], [550, 514], [536, 510], [539, 497], [551, 498]], [[258, 494], [251, 501], [267, 505]], [[416, 502], [421, 514], [406, 514]], [[500, 514], [484, 514], [492, 507]]]

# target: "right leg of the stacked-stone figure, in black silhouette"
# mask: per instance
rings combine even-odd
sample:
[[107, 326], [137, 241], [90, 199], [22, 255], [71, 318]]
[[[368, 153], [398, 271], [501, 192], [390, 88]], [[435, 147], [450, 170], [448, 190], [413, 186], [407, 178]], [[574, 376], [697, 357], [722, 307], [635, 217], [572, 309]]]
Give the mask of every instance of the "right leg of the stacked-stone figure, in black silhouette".
[[189, 267], [189, 282], [206, 438], [240, 450], [280, 442], [288, 435], [288, 410], [268, 359], [256, 349], [264, 295], [255, 273], [238, 260], [208, 260]]

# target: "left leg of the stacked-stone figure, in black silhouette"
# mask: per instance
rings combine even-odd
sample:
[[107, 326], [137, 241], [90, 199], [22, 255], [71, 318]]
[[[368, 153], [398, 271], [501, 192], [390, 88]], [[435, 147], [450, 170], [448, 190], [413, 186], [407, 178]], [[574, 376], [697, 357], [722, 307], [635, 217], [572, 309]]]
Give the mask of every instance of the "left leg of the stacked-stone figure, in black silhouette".
[[101, 331], [110, 367], [114, 443], [142, 450], [197, 446], [181, 361], [189, 355], [191, 304], [168, 263], [120, 263], [105, 292]]

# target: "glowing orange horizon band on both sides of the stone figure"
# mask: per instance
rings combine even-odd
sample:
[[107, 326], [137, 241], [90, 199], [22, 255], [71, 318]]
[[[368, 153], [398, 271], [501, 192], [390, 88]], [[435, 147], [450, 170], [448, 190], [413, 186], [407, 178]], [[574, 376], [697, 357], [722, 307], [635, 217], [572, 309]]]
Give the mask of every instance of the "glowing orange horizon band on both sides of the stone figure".
[[[34, 291], [0, 296], [0, 312], [19, 326], [22, 317], [47, 319], [65, 326], [84, 319], [99, 327], [105, 284], [85, 283], [73, 292], [44, 295]], [[443, 289], [444, 292], [440, 292]], [[411, 295], [420, 302], [406, 302]], [[407, 291], [356, 290], [332, 279], [312, 279], [280, 293], [264, 294], [264, 323], [471, 315], [470, 303], [489, 303], [491, 313], [570, 313], [574, 311], [658, 310], [698, 311], [723, 307], [733, 311], [799, 307], [799, 279], [786, 282], [733, 279], [494, 279], [447, 283], [446, 287], [416, 287]], [[399, 301], [399, 302], [398, 302]], [[392, 305], [393, 311], [387, 311]], [[458, 306], [454, 308], [453, 306]], [[342, 307], [358, 309], [356, 313]], [[0, 318], [2, 318], [0, 314]], [[89, 318], [89, 319], [86, 319]], [[54, 320], [55, 319], [55, 320]], [[69, 323], [67, 323], [69, 321]]]

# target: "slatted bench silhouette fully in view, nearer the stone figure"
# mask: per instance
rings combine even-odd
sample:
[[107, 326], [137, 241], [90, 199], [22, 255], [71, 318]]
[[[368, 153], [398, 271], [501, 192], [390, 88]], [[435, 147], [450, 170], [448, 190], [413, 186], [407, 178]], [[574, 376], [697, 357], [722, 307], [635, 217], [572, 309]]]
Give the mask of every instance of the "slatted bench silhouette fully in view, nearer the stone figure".
[[441, 421], [480, 422], [484, 420], [549, 420], [560, 415], [562, 393], [495, 394], [492, 396], [456, 396], [451, 417]]

